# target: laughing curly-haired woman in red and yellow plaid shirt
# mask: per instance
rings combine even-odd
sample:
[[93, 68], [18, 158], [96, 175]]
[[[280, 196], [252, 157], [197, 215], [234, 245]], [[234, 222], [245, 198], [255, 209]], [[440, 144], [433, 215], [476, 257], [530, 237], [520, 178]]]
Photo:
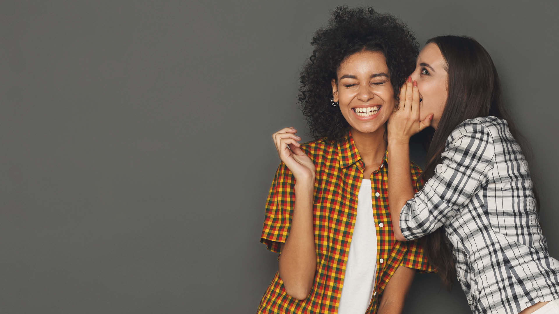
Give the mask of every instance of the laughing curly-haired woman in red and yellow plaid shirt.
[[394, 239], [387, 201], [386, 121], [419, 45], [394, 16], [347, 7], [311, 44], [299, 100], [315, 140], [273, 135], [260, 241], [280, 256], [258, 312], [400, 313], [416, 269], [431, 270], [417, 242]]

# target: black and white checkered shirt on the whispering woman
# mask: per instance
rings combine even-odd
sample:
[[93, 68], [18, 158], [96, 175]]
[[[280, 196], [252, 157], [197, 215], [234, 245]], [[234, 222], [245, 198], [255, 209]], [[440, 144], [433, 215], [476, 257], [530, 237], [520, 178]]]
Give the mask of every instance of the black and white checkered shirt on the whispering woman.
[[408, 240], [440, 226], [474, 313], [518, 314], [559, 298], [559, 261], [549, 256], [528, 164], [505, 120], [462, 122], [433, 177], [402, 208]]

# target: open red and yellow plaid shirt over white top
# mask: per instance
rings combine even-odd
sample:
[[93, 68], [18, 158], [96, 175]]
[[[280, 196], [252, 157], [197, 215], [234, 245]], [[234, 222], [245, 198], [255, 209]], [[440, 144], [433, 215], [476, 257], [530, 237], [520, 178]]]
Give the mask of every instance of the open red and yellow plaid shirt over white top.
[[[357, 213], [357, 194], [364, 163], [351, 134], [339, 144], [313, 141], [301, 149], [316, 166], [314, 188], [314, 234], [317, 253], [316, 275], [309, 297], [291, 298], [276, 273], [264, 294], [258, 313], [336, 313], [342, 293], [345, 265]], [[420, 169], [411, 164], [414, 186], [419, 186]], [[386, 155], [371, 175], [372, 204], [377, 232], [375, 292], [367, 313], [376, 313], [386, 283], [400, 265], [432, 270], [417, 242], [394, 239], [388, 206]], [[266, 201], [266, 219], [260, 242], [280, 253], [291, 226], [295, 204], [295, 179], [281, 163]]]

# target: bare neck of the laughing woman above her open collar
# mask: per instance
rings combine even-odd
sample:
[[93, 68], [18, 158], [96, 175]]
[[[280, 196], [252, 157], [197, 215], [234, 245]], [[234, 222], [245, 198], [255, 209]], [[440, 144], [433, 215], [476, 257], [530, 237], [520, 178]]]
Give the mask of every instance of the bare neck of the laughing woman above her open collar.
[[365, 167], [378, 166], [386, 153], [386, 125], [367, 133], [352, 128], [351, 134]]

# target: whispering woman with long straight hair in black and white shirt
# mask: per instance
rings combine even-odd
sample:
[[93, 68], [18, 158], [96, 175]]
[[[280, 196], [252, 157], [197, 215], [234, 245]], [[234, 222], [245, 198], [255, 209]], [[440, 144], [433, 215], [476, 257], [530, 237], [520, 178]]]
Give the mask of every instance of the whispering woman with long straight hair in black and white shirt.
[[[409, 139], [428, 126], [425, 185], [414, 195]], [[446, 284], [456, 276], [475, 313], [559, 313], [559, 261], [549, 256], [526, 150], [484, 47], [470, 37], [430, 39], [388, 132], [396, 239], [426, 236], [430, 263]]]

